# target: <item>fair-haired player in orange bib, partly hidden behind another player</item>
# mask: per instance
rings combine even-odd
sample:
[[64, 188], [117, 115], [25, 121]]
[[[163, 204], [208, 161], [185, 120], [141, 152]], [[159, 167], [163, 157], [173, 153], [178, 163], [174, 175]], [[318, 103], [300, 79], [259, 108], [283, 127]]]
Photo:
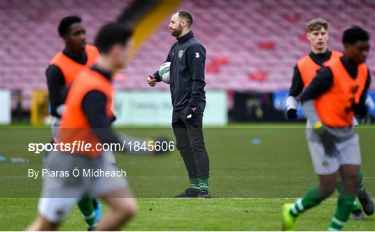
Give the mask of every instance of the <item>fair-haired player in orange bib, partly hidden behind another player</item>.
[[[311, 52], [309, 55], [302, 57], [297, 62], [297, 65], [294, 66], [292, 87], [290, 87], [289, 96], [287, 98], [287, 116], [289, 121], [294, 121], [297, 118], [297, 98], [303, 89], [310, 84], [311, 80], [313, 80], [317, 70], [324, 66], [326, 62], [342, 56], [342, 53], [338, 51], [329, 51], [327, 48], [329, 33], [328, 21], [322, 18], [313, 19], [308, 23], [307, 29], [307, 36], [311, 43]], [[338, 181], [336, 188], [339, 192], [342, 190], [342, 180]], [[367, 215], [374, 213], [374, 204], [363, 184], [362, 172], [360, 172], [358, 198], [360, 199], [360, 203], [363, 205], [363, 209]], [[362, 211], [356, 202], [355, 207], [353, 208], [353, 219], [363, 220]]]

